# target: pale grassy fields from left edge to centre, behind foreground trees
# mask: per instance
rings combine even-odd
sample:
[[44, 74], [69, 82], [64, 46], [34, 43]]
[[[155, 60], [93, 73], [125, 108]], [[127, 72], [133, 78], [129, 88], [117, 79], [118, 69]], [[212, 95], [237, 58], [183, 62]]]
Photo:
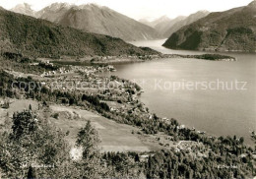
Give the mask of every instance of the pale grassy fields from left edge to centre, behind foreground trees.
[[[0, 108], [0, 124], [4, 123], [7, 114], [11, 120], [14, 112], [29, 109], [30, 104], [32, 110], [38, 109], [38, 102], [34, 100], [19, 99], [10, 102], [9, 109]], [[79, 130], [90, 120], [98, 131], [101, 151], [149, 151], [161, 148], [158, 142], [155, 143], [154, 140], [148, 140], [149, 138], [137, 134], [138, 128], [118, 124], [87, 110], [54, 104], [47, 110], [38, 110], [38, 114], [42, 118], [48, 118], [63, 133], [69, 132], [66, 140], [71, 147], [75, 146]], [[58, 114], [58, 118], [53, 118], [52, 114]]]

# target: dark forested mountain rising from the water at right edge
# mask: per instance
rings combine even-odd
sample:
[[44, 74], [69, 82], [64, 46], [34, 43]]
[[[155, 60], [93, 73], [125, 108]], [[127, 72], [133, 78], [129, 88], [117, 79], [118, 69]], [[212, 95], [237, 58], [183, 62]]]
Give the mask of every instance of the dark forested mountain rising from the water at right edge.
[[174, 32], [163, 46], [174, 49], [256, 51], [256, 0], [207, 17]]

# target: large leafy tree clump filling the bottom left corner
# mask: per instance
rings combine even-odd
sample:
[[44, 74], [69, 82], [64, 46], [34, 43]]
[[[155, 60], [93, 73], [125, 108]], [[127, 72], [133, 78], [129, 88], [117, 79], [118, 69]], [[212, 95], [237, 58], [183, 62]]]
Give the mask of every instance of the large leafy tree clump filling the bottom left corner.
[[32, 168], [27, 173], [27, 166], [32, 164], [53, 166], [36, 169], [42, 178], [66, 177], [71, 162], [65, 135], [29, 110], [15, 113], [13, 118], [12, 133], [0, 138], [0, 167], [6, 174], [4, 178], [25, 178], [33, 173]]

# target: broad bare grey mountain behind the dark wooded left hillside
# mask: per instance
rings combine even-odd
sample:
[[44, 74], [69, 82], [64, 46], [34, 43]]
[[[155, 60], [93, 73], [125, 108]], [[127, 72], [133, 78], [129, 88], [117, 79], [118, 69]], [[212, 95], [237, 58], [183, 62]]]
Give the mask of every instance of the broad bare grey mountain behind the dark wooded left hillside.
[[107, 7], [54, 3], [36, 13], [36, 17], [78, 30], [119, 37], [124, 40], [156, 39], [158, 32]]

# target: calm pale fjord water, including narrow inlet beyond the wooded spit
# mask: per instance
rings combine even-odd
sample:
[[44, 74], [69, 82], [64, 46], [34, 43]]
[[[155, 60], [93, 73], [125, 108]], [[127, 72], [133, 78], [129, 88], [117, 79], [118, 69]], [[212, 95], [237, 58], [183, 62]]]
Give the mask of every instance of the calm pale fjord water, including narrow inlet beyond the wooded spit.
[[[132, 43], [137, 46], [148, 46], [162, 53], [206, 53], [166, 49], [161, 47], [163, 41]], [[114, 75], [137, 82], [145, 91], [141, 95], [141, 100], [152, 112], [161, 117], [175, 118], [180, 124], [195, 127], [214, 136], [244, 137], [247, 144], [252, 144], [250, 133], [256, 131], [256, 54], [224, 54], [236, 57], [238, 61], [160, 59], [115, 65], [117, 71]], [[229, 83], [229, 89], [173, 91], [168, 86], [171, 82], [211, 83], [217, 80]], [[230, 89], [230, 83], [235, 81], [246, 82], [245, 88]]]

